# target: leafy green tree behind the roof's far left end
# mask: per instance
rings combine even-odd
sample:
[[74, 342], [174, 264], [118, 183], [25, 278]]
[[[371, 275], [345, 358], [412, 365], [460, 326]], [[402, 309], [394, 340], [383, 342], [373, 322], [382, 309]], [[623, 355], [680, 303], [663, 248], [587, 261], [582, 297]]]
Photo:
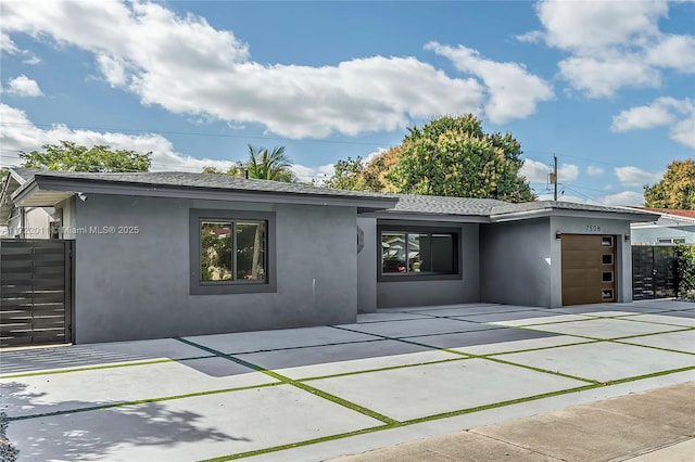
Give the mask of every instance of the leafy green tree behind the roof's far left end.
[[61, 171], [148, 171], [152, 153], [112, 151], [109, 145], [81, 146], [72, 141], [60, 144], [43, 144], [42, 151], [22, 152], [24, 167]]

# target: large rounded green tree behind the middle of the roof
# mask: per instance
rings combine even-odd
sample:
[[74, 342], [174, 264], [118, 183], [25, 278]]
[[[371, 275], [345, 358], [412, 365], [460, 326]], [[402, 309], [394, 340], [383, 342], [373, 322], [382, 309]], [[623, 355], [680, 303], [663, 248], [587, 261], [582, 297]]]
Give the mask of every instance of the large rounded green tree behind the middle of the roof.
[[485, 133], [470, 114], [444, 116], [409, 129], [387, 178], [401, 193], [533, 201], [520, 155], [510, 133]]

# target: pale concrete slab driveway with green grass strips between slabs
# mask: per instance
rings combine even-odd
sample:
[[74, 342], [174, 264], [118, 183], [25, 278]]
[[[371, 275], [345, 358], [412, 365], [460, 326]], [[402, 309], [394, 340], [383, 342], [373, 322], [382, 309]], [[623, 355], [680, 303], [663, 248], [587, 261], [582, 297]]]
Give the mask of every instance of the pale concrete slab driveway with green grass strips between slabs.
[[392, 309], [1, 359], [21, 461], [318, 461], [693, 381], [695, 304]]

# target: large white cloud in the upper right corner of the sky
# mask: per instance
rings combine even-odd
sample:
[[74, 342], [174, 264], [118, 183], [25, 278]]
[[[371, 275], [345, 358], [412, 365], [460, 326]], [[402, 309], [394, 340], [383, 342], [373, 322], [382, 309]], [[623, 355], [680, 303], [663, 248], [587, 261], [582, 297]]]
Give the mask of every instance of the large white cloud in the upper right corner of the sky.
[[661, 70], [695, 74], [695, 36], [659, 30], [668, 2], [541, 0], [542, 30], [517, 37], [569, 53], [559, 75], [590, 98], [611, 97], [621, 88], [656, 88]]

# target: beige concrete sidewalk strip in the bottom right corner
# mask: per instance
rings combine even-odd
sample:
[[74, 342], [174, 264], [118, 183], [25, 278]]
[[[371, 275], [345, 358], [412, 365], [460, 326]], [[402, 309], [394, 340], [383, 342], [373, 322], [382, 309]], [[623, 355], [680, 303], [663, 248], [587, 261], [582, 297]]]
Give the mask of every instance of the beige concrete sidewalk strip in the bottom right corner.
[[695, 382], [333, 459], [333, 462], [695, 461]]

